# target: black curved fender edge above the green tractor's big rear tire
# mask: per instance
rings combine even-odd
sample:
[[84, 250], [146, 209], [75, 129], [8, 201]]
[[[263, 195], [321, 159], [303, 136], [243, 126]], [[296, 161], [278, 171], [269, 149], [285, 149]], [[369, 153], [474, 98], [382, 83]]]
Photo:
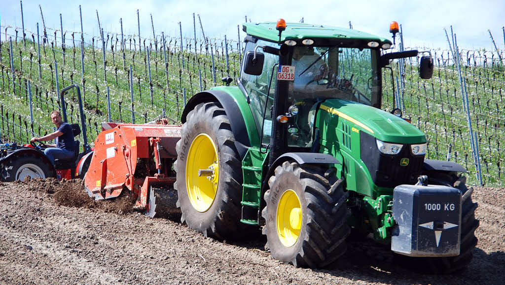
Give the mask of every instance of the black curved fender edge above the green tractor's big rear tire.
[[235, 99], [229, 93], [222, 90], [206, 90], [194, 94], [184, 107], [184, 111], [182, 111], [181, 122], [186, 122], [187, 114], [193, 110], [196, 105], [212, 101], [219, 102], [226, 111], [226, 115], [230, 120], [231, 131], [235, 136], [235, 147], [240, 155], [240, 159], [243, 159], [251, 144], [242, 112], [238, 108]]

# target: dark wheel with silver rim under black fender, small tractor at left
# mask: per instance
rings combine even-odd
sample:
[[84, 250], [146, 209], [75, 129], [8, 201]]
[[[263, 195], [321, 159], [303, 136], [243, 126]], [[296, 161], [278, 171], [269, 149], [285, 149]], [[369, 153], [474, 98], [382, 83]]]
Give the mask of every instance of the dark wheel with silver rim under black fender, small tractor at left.
[[1, 180], [12, 182], [24, 180], [26, 176], [43, 179], [54, 177], [55, 173], [51, 163], [43, 159], [41, 154], [34, 152], [15, 153], [3, 161], [1, 165]]

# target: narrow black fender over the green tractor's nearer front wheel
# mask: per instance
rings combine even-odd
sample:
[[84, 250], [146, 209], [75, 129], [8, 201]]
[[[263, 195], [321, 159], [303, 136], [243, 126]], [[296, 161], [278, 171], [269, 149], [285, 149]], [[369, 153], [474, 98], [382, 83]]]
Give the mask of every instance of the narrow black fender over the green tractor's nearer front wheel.
[[334, 156], [330, 154], [321, 154], [321, 153], [285, 153], [278, 157], [274, 163], [272, 164], [272, 167], [267, 171], [267, 174], [265, 175], [265, 180], [263, 183], [263, 186], [261, 188], [261, 196], [262, 199], [260, 199], [260, 211], [259, 211], [259, 216], [258, 219], [261, 221], [261, 212], [263, 208], [266, 206], [265, 199], [263, 199], [263, 196], [265, 195], [265, 192], [268, 189], [268, 180], [270, 179], [270, 176], [274, 174], [275, 168], [277, 166], [282, 165], [285, 161], [288, 160], [294, 160], [298, 164], [341, 164], [341, 162], [336, 159]]

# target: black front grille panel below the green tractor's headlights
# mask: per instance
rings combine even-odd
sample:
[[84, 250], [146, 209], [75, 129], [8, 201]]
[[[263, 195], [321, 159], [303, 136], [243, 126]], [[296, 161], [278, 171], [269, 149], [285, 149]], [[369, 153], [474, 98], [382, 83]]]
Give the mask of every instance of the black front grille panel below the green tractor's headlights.
[[[384, 155], [377, 149], [375, 137], [361, 132], [361, 159], [367, 166], [374, 183], [393, 188], [400, 184], [415, 184], [421, 175], [424, 155], [414, 156], [410, 145], [403, 145], [397, 155]], [[401, 161], [409, 163], [402, 165]]]

